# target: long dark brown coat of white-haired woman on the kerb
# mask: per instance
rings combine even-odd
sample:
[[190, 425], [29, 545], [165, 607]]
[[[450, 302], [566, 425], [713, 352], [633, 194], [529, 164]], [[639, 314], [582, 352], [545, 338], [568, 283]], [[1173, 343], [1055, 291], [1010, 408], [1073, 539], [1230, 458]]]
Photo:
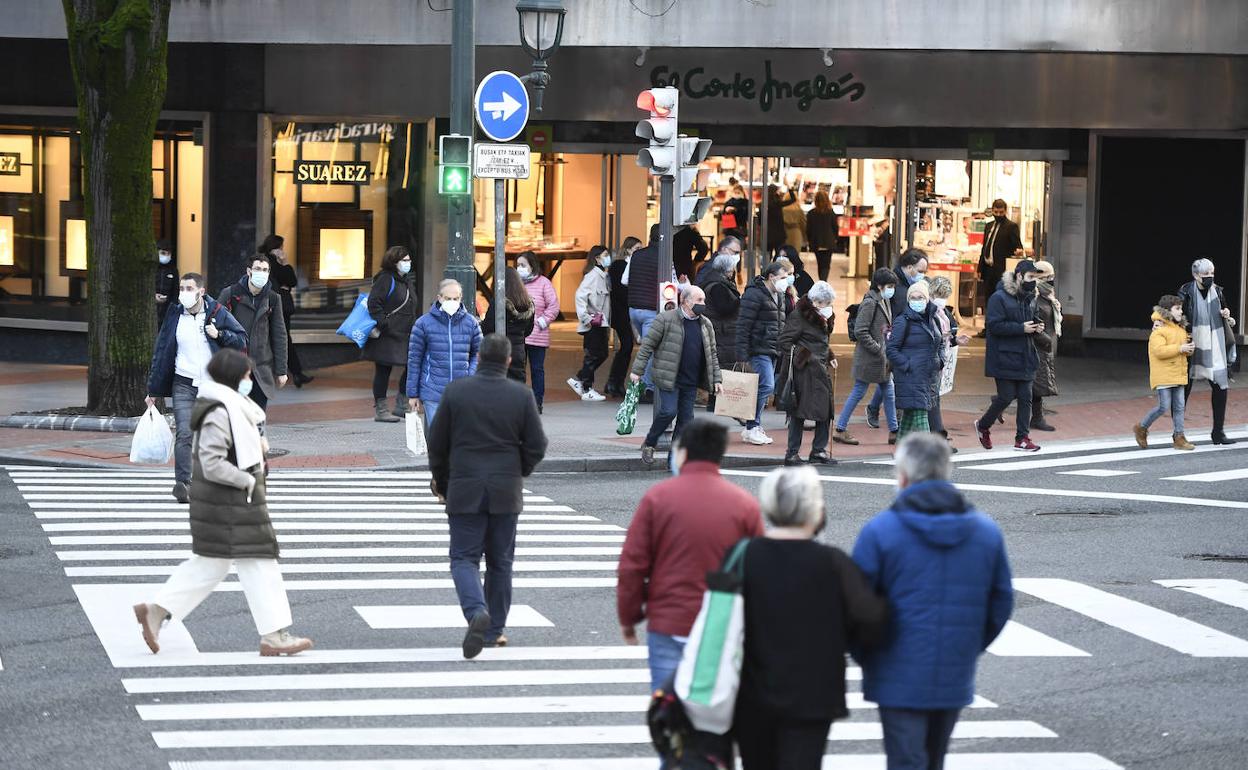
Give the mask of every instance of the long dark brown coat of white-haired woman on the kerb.
[[827, 338], [832, 333], [835, 321], [835, 314], [824, 319], [810, 300], [802, 297], [797, 301], [795, 312], [789, 316], [784, 331], [780, 332], [781, 374], [778, 377], [776, 393], [782, 392], [785, 383], [792, 377], [797, 396], [796, 408], [789, 412], [789, 419], [827, 422], [834, 416], [835, 394], [827, 367], [836, 359], [836, 354], [832, 353]]

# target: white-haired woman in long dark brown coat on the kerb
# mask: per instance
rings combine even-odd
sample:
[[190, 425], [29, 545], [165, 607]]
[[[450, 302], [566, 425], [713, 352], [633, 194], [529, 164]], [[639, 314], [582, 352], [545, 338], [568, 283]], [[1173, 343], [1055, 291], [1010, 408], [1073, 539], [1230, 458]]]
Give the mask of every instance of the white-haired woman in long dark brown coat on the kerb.
[[839, 366], [836, 353], [829, 343], [836, 322], [836, 312], [832, 309], [835, 300], [836, 292], [826, 281], [815, 283], [805, 297], [797, 300], [797, 307], [780, 332], [780, 367], [785, 372], [785, 379], [792, 382], [794, 389], [794, 401], [787, 409], [789, 447], [784, 456], [785, 465], [800, 465], [802, 462], [802, 423], [807, 419], [815, 423], [809, 462], [836, 464], [827, 454], [827, 434], [835, 413], [835, 393], [827, 368], [835, 369]]

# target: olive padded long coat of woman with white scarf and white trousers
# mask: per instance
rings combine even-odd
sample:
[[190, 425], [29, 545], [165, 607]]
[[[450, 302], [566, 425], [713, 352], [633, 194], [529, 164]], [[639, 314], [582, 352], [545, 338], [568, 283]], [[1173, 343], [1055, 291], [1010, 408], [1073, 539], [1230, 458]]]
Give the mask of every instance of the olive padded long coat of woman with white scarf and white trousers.
[[213, 559], [276, 559], [263, 468], [238, 468], [225, 406], [197, 398], [191, 429], [191, 552]]

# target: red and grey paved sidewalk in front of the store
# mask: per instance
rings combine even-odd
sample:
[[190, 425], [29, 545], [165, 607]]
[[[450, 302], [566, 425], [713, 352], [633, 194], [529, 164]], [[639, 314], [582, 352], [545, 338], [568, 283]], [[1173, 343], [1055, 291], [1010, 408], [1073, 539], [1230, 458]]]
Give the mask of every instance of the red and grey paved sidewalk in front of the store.
[[[650, 422], [650, 407], [640, 407], [633, 436], [615, 434], [615, 409], [619, 402], [583, 403], [565, 381], [579, 368], [580, 338], [572, 323], [555, 324], [554, 347], [547, 361], [547, 398], [543, 422], [550, 439], [547, 472], [572, 470], [643, 470], [639, 447]], [[844, 333], [834, 339], [844, 341]], [[852, 346], [834, 344], [840, 357], [836, 381], [836, 403], [840, 407], [852, 383]], [[1143, 358], [1143, 348], [1142, 354]], [[600, 381], [609, 367], [599, 369]], [[1075, 441], [1104, 436], [1129, 436], [1131, 426], [1152, 408], [1154, 398], [1148, 389], [1147, 364], [1107, 362], [1094, 358], [1060, 358], [1058, 383], [1062, 396], [1046, 399], [1047, 409], [1056, 411], [1050, 422], [1056, 433], [1036, 433], [1046, 441]], [[404, 447], [403, 424], [377, 423], [372, 419], [372, 366], [352, 363], [314, 371], [316, 381], [302, 389], [287, 386], [270, 404], [270, 442], [280, 457], [275, 468], [413, 468], [424, 465]], [[1228, 429], [1248, 422], [1248, 378], [1241, 378], [1231, 394]], [[983, 377], [983, 343], [972, 342], [958, 359], [953, 393], [945, 397], [945, 422], [960, 449], [977, 448], [971, 423], [987, 406], [995, 392], [991, 379]], [[0, 371], [0, 416], [15, 412], [37, 412], [59, 407], [81, 406], [86, 402], [86, 369], [84, 367], [6, 363]], [[704, 412], [699, 412], [704, 413]], [[784, 457], [784, 416], [769, 411], [764, 428], [775, 439], [768, 447], [744, 444], [735, 423], [731, 424], [730, 463], [778, 463]], [[1187, 407], [1189, 431], [1211, 424], [1209, 391], [1199, 386]], [[851, 433], [862, 443], [857, 447], [834, 444], [830, 449], [840, 459], [865, 459], [890, 453], [886, 426], [870, 429], [860, 407], [850, 423]], [[1169, 423], [1162, 418], [1157, 436], [1168, 436]], [[998, 446], [1008, 447], [1013, 438], [1012, 416], [997, 426]], [[805, 439], [809, 452], [810, 436]], [[1003, 449], [1008, 451], [1008, 449]], [[44, 431], [0, 428], [0, 463], [45, 463], [87, 467], [129, 464], [130, 436], [126, 433], [95, 433], [81, 431]], [[665, 470], [663, 454], [654, 465]]]

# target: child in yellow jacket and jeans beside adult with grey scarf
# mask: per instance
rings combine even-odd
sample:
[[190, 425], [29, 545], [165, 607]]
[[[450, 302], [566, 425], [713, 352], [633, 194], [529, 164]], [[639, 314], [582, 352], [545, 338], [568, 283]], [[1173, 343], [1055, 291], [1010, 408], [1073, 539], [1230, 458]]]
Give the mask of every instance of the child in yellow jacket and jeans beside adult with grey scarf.
[[1174, 423], [1174, 448], [1196, 449], [1183, 434], [1183, 413], [1187, 409], [1188, 359], [1196, 343], [1187, 333], [1183, 298], [1166, 295], [1153, 308], [1153, 328], [1148, 337], [1148, 387], [1157, 391], [1157, 407], [1136, 424], [1133, 432], [1141, 449], [1148, 448], [1148, 428], [1167, 412]]

